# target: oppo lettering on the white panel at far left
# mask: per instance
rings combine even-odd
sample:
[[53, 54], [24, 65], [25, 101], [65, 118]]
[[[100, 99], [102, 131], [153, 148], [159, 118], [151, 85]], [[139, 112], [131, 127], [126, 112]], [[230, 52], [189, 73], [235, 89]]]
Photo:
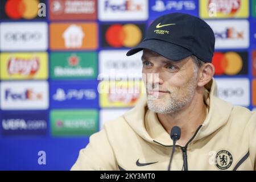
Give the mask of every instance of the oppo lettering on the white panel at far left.
[[40, 32], [8, 32], [5, 34], [7, 41], [35, 41], [41, 38], [42, 34], [40, 34]]

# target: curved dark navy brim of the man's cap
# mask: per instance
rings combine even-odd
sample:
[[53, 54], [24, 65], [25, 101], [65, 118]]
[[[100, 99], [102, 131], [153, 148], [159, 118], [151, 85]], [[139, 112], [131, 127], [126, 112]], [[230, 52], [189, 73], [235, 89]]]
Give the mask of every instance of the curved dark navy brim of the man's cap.
[[177, 46], [176, 44], [165, 42], [163, 40], [148, 39], [139, 43], [137, 47], [130, 49], [130, 51], [126, 53], [126, 56], [134, 55], [143, 49], [149, 49], [150, 51], [154, 51], [159, 55], [174, 61], [193, 55], [193, 53], [188, 49]]

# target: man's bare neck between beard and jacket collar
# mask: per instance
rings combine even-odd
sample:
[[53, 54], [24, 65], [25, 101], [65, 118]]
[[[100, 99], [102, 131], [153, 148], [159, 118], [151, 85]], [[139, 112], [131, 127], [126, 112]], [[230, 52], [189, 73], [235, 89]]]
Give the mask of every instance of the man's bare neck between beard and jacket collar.
[[174, 114], [157, 114], [159, 122], [167, 133], [170, 134], [172, 127], [179, 126], [181, 137], [177, 141], [185, 146], [189, 139], [196, 133], [197, 128], [204, 122], [207, 116], [207, 106], [204, 104], [203, 96], [195, 93], [192, 101], [183, 110]]

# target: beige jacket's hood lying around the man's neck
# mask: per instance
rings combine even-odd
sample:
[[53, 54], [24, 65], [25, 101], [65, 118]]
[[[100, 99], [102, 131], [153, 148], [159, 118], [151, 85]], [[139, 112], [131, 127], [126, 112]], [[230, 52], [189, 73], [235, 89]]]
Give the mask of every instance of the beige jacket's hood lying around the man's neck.
[[[233, 109], [232, 104], [217, 98], [217, 85], [214, 78], [205, 85], [204, 102], [208, 106], [208, 114], [193, 140], [207, 137], [224, 126]], [[135, 133], [148, 142], [163, 146], [172, 145], [170, 135], [158, 121], [156, 113], [148, 110], [146, 94], [123, 117]]]

